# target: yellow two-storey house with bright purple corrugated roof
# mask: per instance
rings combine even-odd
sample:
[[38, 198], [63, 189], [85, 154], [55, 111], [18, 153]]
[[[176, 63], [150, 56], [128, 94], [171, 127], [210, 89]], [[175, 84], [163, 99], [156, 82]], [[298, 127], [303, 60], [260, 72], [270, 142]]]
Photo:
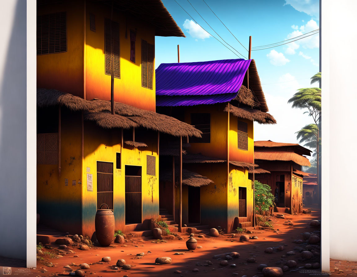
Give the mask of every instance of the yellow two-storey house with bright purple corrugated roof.
[[[158, 112], [202, 131], [202, 138], [188, 137], [190, 147], [182, 159], [185, 169], [212, 183], [182, 186], [182, 224], [197, 229], [220, 226], [226, 232], [251, 226], [253, 185], [248, 170], [256, 166], [253, 121], [276, 123], [267, 113], [255, 61], [161, 64], [156, 70], [156, 106]], [[164, 185], [161, 182], [160, 189]], [[178, 218], [179, 193], [175, 195]]]

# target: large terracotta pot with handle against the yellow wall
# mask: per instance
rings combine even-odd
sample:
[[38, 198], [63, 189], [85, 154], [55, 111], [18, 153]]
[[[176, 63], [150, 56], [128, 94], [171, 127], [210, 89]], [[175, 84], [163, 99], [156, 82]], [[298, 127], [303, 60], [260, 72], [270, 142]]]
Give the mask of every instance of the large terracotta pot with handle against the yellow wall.
[[[103, 207], [102, 204], [100, 208]], [[99, 209], [95, 215], [95, 234], [101, 246], [109, 246], [114, 238], [114, 213], [109, 209]]]

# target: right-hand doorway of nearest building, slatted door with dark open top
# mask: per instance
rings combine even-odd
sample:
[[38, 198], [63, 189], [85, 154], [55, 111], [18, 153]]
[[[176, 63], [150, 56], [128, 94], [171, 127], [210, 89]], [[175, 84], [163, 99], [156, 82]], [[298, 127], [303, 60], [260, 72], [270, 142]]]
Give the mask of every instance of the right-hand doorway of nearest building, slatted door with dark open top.
[[141, 166], [125, 166], [125, 224], [142, 223]]

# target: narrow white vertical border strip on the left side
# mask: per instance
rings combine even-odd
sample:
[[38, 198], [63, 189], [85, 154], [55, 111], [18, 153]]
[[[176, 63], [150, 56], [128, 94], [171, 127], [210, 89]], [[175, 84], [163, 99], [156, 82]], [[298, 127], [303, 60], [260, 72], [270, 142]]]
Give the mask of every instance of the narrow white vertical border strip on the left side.
[[27, 0], [26, 266], [36, 267], [36, 1]]

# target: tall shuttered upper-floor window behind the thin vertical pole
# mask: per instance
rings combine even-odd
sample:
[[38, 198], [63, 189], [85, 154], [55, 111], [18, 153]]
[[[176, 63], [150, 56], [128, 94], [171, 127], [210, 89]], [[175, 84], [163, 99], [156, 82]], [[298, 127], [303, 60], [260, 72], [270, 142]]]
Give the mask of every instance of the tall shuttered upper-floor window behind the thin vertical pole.
[[105, 19], [105, 74], [111, 75], [112, 66], [114, 77], [120, 78], [120, 33], [119, 23]]

